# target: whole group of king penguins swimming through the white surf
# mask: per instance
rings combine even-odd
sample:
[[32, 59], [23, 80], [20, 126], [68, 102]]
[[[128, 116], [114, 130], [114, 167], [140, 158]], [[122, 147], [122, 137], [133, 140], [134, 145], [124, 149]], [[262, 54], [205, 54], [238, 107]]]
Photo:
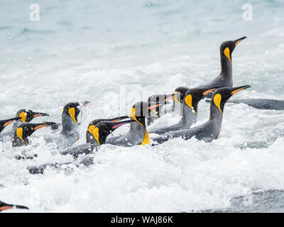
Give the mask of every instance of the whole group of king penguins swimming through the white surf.
[[[61, 155], [73, 155], [76, 159], [80, 155], [89, 155], [99, 150], [107, 143], [117, 146], [132, 147], [136, 145], [158, 145], [165, 143], [171, 138], [197, 138], [211, 142], [217, 139], [224, 114], [224, 105], [231, 96], [247, 89], [251, 86], [244, 85], [233, 87], [232, 77], [232, 52], [239, 43], [246, 37], [237, 40], [225, 41], [220, 45], [221, 72], [211, 82], [202, 84], [198, 87], [178, 87], [173, 94], [154, 94], [147, 101], [140, 101], [131, 107], [129, 116], [118, 116], [116, 118], [96, 119], [89, 123], [86, 131], [86, 143], [72, 146], [80, 137], [78, 116], [87, 101], [71, 102], [66, 104], [62, 111], [62, 122], [55, 123], [44, 121], [43, 123], [30, 123], [33, 118], [39, 116], [48, 116], [48, 114], [21, 109], [14, 118], [0, 121], [0, 141], [10, 141], [13, 147], [28, 145], [31, 135], [40, 128], [48, 127], [56, 133], [46, 136], [45, 140], [49, 143], [56, 143]], [[204, 99], [205, 98], [205, 99]], [[198, 103], [202, 100], [210, 101], [210, 113], [207, 122], [200, 126], [191, 128], [197, 122]], [[173, 101], [171, 103], [170, 101]], [[272, 99], [239, 99], [231, 101], [232, 103], [244, 103], [253, 106], [256, 109], [275, 109], [283, 110], [284, 101]], [[173, 107], [180, 106], [181, 119], [178, 123], [171, 126], [155, 128], [147, 131], [156, 119], [162, 115], [162, 109], [166, 104], [172, 104]], [[2, 133], [4, 128], [13, 123], [10, 131]], [[109, 136], [116, 128], [130, 124], [129, 131], [124, 135]], [[61, 128], [61, 130], [59, 129]], [[155, 133], [155, 137], [150, 140], [149, 134]], [[36, 156], [35, 156], [36, 157]], [[18, 158], [18, 157], [17, 157]], [[33, 158], [33, 157], [20, 157]], [[84, 163], [84, 160], [87, 160]], [[89, 165], [89, 159], [83, 159], [82, 164]], [[46, 164], [39, 167], [28, 167], [31, 174], [43, 173], [47, 166], [58, 167], [60, 164]], [[0, 201], [0, 211], [6, 209], [27, 209], [26, 206], [6, 204]]]

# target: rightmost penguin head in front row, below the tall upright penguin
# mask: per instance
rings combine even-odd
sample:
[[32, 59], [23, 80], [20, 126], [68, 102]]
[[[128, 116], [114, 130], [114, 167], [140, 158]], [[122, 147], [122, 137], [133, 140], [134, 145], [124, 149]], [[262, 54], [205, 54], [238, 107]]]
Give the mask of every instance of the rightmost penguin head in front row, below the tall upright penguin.
[[217, 106], [217, 109], [223, 114], [224, 111], [224, 105], [226, 101], [237, 92], [240, 92], [241, 90], [247, 89], [251, 87], [250, 85], [244, 85], [240, 87], [222, 87], [219, 89], [216, 89], [213, 96], [212, 96], [212, 103], [214, 106]]

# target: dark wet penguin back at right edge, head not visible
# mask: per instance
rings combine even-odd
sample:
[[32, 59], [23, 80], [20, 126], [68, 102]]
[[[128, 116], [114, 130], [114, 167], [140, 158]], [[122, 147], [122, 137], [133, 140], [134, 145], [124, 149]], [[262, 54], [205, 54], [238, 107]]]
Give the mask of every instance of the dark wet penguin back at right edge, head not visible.
[[231, 100], [234, 104], [246, 104], [256, 109], [284, 110], [284, 101], [275, 99], [236, 99]]

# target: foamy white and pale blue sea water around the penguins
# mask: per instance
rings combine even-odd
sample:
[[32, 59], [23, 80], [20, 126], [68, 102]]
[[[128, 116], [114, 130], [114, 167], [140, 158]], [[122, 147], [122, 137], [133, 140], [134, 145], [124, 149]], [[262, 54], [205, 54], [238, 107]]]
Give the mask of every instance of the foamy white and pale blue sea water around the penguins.
[[[40, 18], [33, 18], [34, 3]], [[284, 99], [283, 12], [281, 0], [2, 0], [1, 119], [31, 109], [50, 114], [33, 122], [60, 122], [65, 104], [91, 101], [79, 118], [77, 144], [85, 143], [95, 118], [129, 114], [152, 94], [214, 79], [219, 45], [243, 36], [232, 54], [234, 85], [251, 89], [233, 98]], [[151, 128], [179, 118], [166, 114]], [[209, 104], [201, 101], [195, 126], [208, 118]], [[284, 111], [226, 104], [212, 143], [102, 145], [90, 167], [30, 175], [31, 165], [72, 162], [45, 143], [49, 133], [33, 133], [27, 148], [0, 144], [2, 201], [48, 212], [284, 211]], [[22, 152], [38, 157], [16, 160]]]

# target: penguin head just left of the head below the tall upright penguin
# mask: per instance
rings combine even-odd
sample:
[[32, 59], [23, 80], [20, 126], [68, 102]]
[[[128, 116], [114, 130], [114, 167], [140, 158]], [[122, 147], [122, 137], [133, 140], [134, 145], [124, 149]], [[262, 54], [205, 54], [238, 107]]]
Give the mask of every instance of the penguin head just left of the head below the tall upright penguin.
[[197, 114], [197, 105], [201, 99], [210, 92], [213, 92], [215, 89], [221, 86], [217, 85], [214, 87], [207, 87], [207, 88], [193, 88], [187, 90], [185, 93], [184, 104], [188, 106], [191, 111], [194, 111]]

